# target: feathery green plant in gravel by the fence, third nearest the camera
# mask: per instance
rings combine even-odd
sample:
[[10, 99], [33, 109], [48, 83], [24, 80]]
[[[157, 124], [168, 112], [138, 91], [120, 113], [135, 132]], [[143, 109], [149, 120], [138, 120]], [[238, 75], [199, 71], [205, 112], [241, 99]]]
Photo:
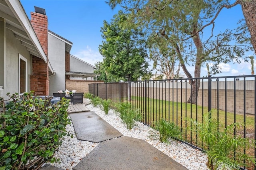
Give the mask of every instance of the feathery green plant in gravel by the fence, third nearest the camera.
[[138, 110], [133, 110], [130, 107], [130, 103], [118, 103], [116, 105], [117, 111], [120, 113], [119, 117], [122, 119], [122, 123], [126, 124], [128, 130], [132, 130], [136, 121], [141, 120], [141, 114]]

